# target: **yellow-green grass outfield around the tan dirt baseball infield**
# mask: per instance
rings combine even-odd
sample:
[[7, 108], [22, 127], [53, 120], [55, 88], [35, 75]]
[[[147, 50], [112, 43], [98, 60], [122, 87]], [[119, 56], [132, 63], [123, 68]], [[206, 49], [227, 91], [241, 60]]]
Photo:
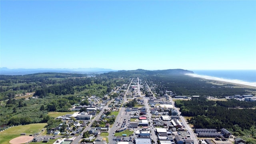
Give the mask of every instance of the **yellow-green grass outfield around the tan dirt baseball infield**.
[[44, 126], [46, 126], [46, 123], [27, 124], [8, 128], [7, 130], [0, 132], [0, 144], [9, 144], [10, 140], [20, 136], [21, 133], [29, 135], [41, 132]]

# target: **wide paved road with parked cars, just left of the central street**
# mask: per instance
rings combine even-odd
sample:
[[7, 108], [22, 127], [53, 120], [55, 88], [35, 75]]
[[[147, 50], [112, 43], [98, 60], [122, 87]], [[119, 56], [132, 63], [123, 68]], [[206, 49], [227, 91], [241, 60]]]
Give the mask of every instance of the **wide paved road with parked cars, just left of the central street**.
[[[133, 80], [133, 79], [132, 79], [132, 80]], [[126, 96], [127, 96], [128, 91], [129, 91], [129, 88], [130, 88], [130, 86], [131, 86], [131, 84], [132, 84], [132, 80], [131, 80], [131, 82], [130, 82], [130, 84], [129, 84], [129, 86], [128, 86], [128, 88], [127, 88], [125, 94], [124, 94], [123, 105], [126, 103]], [[114, 136], [112, 136], [112, 134], [113, 134], [113, 132], [116, 131], [116, 129], [117, 129], [117, 127], [116, 127], [116, 126], [117, 126], [117, 123], [120, 122], [120, 120], [122, 119], [122, 113], [124, 112], [124, 110], [125, 110], [124, 107], [121, 107], [121, 108], [120, 108], [120, 110], [119, 110], [119, 112], [118, 112], [118, 115], [116, 116], [116, 120], [115, 120], [115, 122], [114, 122], [112, 128], [110, 128], [110, 129], [108, 130], [108, 132], [109, 132], [109, 134], [108, 134], [108, 143], [109, 143], [109, 144], [115, 144], [115, 143], [116, 143], [116, 141], [113, 140]]]

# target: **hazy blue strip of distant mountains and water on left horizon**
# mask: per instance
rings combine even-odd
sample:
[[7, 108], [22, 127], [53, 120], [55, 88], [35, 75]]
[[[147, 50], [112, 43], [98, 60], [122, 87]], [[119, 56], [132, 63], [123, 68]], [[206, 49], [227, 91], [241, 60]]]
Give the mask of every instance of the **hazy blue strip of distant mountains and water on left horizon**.
[[24, 74], [34, 74], [41, 72], [62, 72], [62, 73], [78, 73], [78, 74], [102, 74], [105, 72], [116, 72], [117, 70], [105, 69], [105, 68], [35, 68], [35, 69], [26, 69], [26, 68], [17, 68], [9, 69], [6, 67], [0, 68], [0, 74], [5, 75], [24, 75]]

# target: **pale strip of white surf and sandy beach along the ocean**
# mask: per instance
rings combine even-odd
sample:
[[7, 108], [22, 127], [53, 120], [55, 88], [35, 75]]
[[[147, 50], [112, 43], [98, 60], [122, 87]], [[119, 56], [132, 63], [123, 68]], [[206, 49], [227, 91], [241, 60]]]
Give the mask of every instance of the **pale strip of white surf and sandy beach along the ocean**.
[[228, 80], [224, 78], [216, 78], [212, 76], [204, 76], [204, 75], [199, 75], [199, 74], [186, 74], [188, 76], [192, 77], [197, 77], [197, 78], [204, 78], [206, 80], [215, 80], [215, 81], [221, 81], [221, 82], [226, 82], [226, 83], [232, 83], [232, 84], [237, 84], [237, 85], [244, 85], [244, 86], [250, 86], [250, 88], [256, 88], [256, 82], [244, 82], [241, 80]]

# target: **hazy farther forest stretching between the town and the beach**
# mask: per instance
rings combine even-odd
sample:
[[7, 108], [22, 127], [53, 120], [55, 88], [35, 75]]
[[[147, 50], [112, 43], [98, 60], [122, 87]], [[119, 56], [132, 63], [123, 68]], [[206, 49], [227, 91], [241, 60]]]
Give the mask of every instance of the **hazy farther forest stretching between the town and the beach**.
[[[156, 84], [155, 91], [163, 96], [166, 90], [171, 90], [179, 96], [214, 96], [224, 98], [235, 94], [252, 94], [250, 88], [233, 88], [232, 84], [218, 86], [206, 82], [200, 78], [185, 76], [183, 74], [172, 74], [168, 76], [148, 76], [146, 81]], [[150, 83], [149, 83], [150, 84]]]

